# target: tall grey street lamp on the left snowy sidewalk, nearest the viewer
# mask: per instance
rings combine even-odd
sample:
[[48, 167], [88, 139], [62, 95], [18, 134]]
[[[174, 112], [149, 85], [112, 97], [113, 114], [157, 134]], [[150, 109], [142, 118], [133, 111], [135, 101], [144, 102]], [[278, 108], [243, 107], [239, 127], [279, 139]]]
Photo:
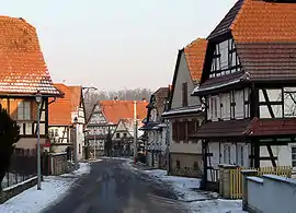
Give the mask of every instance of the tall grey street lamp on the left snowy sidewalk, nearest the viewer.
[[37, 91], [35, 96], [35, 100], [37, 103], [37, 190], [41, 190], [41, 103], [42, 103], [42, 94]]

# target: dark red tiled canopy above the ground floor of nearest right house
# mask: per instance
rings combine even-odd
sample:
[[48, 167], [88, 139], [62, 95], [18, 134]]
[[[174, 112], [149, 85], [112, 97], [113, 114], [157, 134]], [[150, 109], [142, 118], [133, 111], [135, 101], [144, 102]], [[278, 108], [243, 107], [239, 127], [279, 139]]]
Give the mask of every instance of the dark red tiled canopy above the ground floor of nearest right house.
[[217, 142], [283, 137], [296, 137], [296, 118], [209, 121], [190, 135], [197, 140]]

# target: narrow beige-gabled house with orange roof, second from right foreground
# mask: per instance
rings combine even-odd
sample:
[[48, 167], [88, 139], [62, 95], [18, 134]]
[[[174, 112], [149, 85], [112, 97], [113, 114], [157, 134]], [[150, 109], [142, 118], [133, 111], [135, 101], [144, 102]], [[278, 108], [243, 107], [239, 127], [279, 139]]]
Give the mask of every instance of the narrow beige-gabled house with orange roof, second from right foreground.
[[202, 173], [202, 145], [189, 135], [204, 119], [200, 99], [191, 93], [200, 83], [206, 44], [206, 39], [198, 38], [179, 50], [169, 108], [162, 114], [169, 119], [169, 173], [172, 175], [197, 177]]

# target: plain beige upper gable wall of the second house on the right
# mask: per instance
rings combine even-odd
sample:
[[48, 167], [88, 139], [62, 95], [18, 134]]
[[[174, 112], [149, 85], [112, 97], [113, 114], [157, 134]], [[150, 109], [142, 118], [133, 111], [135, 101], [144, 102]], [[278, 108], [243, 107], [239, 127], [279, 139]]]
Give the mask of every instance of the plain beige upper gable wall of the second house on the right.
[[178, 76], [174, 85], [174, 93], [172, 98], [171, 108], [180, 108], [182, 106], [182, 84], [187, 82], [187, 98], [189, 98], [189, 106], [194, 106], [200, 104], [198, 97], [191, 96], [191, 93], [194, 90], [194, 84], [191, 79], [191, 74], [187, 68], [186, 59], [184, 51], [181, 55], [180, 64], [178, 68]]

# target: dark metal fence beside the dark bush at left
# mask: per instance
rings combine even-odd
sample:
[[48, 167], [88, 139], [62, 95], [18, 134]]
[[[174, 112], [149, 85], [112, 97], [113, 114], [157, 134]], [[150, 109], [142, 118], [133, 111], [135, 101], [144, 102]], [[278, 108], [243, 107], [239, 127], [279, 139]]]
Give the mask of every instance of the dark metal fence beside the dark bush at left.
[[35, 150], [15, 149], [11, 157], [9, 171], [1, 182], [2, 188], [11, 187], [36, 176], [36, 165], [37, 156]]

